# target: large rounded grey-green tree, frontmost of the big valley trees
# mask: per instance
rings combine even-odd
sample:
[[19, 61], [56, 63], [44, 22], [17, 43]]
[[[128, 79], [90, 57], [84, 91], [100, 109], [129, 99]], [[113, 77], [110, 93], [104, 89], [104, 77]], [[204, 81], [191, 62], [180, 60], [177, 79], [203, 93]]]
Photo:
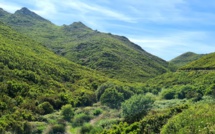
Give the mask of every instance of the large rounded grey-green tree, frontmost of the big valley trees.
[[150, 96], [133, 95], [122, 103], [122, 116], [127, 122], [134, 122], [147, 114], [152, 107], [154, 100]]

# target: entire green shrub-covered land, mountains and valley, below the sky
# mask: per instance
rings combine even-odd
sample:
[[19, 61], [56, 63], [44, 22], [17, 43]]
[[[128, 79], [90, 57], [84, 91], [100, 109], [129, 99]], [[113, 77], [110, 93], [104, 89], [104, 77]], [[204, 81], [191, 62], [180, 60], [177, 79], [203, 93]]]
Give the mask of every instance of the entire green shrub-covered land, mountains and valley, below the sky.
[[215, 133], [215, 53], [181, 55], [171, 72], [81, 22], [56, 26], [26, 8], [0, 20], [0, 133]]

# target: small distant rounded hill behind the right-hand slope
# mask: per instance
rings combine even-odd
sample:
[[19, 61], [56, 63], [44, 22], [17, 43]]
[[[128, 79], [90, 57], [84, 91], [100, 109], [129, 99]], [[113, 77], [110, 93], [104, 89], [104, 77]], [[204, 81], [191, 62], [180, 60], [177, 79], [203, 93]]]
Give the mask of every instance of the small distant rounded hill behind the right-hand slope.
[[203, 54], [196, 54], [193, 52], [186, 52], [170, 61], [171, 64], [177, 66], [177, 67], [182, 67], [192, 61], [195, 61], [199, 58], [201, 58]]

